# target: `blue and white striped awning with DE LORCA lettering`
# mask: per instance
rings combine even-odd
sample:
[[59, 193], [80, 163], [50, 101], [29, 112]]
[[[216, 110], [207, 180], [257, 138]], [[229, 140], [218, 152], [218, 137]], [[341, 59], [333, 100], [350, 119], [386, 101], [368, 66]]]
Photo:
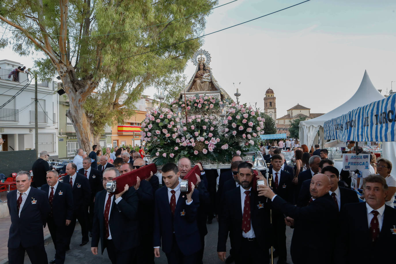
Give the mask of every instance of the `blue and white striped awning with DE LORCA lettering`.
[[324, 122], [324, 139], [396, 141], [396, 94]]

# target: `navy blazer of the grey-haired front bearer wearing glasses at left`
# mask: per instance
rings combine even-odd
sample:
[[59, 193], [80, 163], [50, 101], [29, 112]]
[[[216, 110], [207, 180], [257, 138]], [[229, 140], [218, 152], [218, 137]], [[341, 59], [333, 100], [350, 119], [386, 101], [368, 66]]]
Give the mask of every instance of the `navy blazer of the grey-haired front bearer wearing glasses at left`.
[[[105, 250], [105, 198], [106, 190], [98, 192], [95, 196], [95, 209], [93, 211], [91, 247], [97, 247], [99, 239], [102, 254]], [[135, 188], [129, 188], [116, 203], [114, 196], [109, 218], [110, 233], [114, 246], [119, 251], [127, 251], [139, 245], [137, 208], [139, 198]]]

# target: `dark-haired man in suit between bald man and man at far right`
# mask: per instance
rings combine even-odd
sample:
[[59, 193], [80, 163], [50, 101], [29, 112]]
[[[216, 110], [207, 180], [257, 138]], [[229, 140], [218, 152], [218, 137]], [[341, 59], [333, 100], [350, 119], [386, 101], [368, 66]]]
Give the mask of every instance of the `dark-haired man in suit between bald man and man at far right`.
[[327, 166], [322, 169], [322, 173], [326, 174], [330, 179], [331, 188], [329, 194], [337, 205], [338, 211], [344, 207], [346, 203], [358, 203], [359, 198], [355, 191], [338, 186], [339, 171], [336, 167]]

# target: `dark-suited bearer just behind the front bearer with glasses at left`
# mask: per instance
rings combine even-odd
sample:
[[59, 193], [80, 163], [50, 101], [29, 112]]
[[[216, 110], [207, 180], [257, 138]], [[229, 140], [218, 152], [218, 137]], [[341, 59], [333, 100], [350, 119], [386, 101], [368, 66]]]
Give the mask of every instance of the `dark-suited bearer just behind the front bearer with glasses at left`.
[[[121, 165], [120, 175], [133, 170], [135, 170], [135, 168], [132, 163], [124, 163]], [[156, 178], [158, 181], [158, 177]], [[137, 183], [133, 188], [135, 188], [137, 197], [139, 198], [137, 220], [139, 226], [140, 245], [137, 247], [138, 254], [136, 254], [136, 263], [154, 264], [154, 252], [152, 250], [152, 235], [154, 228], [154, 190], [150, 182], [147, 180], [140, 180], [139, 177], [137, 177]]]

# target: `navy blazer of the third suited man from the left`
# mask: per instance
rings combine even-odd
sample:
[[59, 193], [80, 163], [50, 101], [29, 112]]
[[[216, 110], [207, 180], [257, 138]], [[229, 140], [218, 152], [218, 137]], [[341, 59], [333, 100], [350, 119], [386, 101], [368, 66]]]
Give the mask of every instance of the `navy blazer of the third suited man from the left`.
[[[63, 177], [63, 182], [69, 184], [70, 175]], [[70, 184], [69, 184], [70, 185]], [[73, 209], [74, 212], [82, 210], [88, 206], [91, 201], [91, 187], [88, 179], [77, 173], [76, 180], [73, 183]]]

